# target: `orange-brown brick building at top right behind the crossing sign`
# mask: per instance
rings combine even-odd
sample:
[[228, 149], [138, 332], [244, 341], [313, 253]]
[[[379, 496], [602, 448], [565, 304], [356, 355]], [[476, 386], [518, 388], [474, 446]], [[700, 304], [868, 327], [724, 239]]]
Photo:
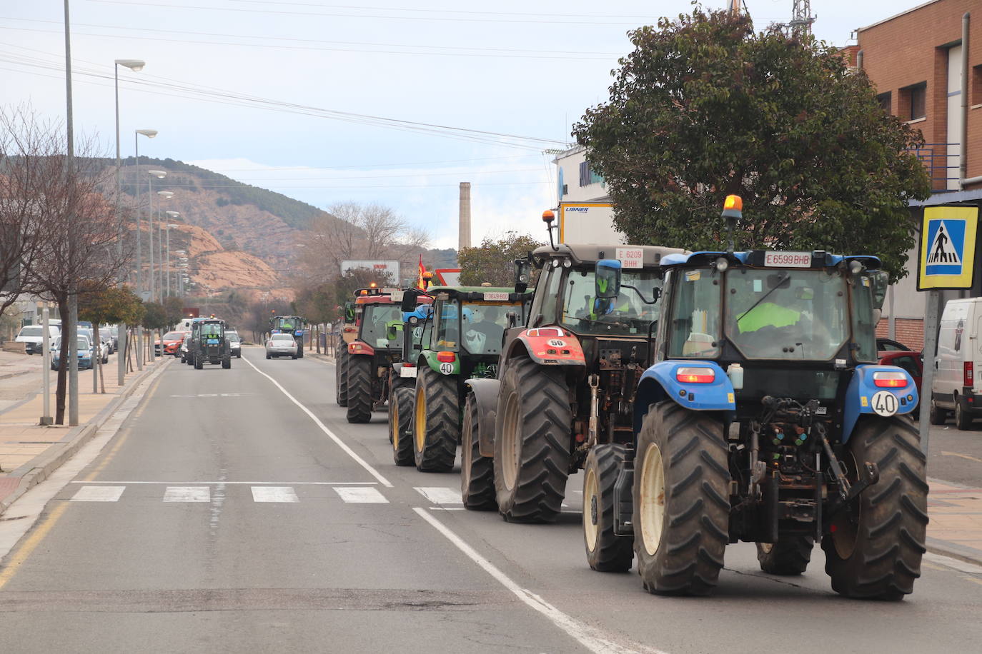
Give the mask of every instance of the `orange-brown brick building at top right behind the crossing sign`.
[[[973, 9], [975, 15], [968, 16]], [[932, 0], [856, 33], [857, 43], [846, 54], [869, 75], [884, 109], [924, 137], [925, 146], [915, 154], [931, 176], [933, 193], [928, 200], [910, 203], [915, 225], [920, 225], [925, 206], [979, 206], [982, 1]], [[879, 331], [919, 348], [925, 294], [916, 291], [916, 250], [907, 269], [908, 276], [891, 288]], [[960, 296], [982, 296], [982, 275], [970, 291], [946, 291], [943, 301]]]

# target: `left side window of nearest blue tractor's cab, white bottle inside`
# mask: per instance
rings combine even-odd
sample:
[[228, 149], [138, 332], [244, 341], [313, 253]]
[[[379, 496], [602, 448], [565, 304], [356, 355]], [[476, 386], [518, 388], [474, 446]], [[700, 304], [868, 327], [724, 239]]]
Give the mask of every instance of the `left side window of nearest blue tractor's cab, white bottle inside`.
[[715, 357], [720, 353], [720, 278], [708, 268], [673, 273], [669, 356]]

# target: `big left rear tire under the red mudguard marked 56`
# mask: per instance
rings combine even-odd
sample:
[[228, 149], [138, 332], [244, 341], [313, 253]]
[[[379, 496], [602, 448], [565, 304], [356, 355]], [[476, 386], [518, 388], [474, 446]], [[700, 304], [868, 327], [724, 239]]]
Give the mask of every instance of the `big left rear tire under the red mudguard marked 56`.
[[573, 410], [564, 371], [520, 357], [506, 363], [498, 396], [494, 485], [511, 523], [551, 523], [570, 471]]

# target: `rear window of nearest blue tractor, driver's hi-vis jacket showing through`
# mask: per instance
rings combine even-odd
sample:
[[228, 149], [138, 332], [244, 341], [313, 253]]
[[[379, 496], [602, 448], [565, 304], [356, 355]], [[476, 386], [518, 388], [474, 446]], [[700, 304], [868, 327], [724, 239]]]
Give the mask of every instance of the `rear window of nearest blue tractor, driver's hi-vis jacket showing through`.
[[725, 296], [727, 336], [747, 359], [828, 361], [846, 343], [842, 271], [733, 270]]

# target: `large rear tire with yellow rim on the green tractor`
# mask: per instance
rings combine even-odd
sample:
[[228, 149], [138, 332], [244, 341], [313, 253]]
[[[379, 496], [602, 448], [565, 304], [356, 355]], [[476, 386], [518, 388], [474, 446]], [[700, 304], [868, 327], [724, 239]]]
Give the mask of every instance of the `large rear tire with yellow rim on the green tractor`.
[[423, 365], [416, 373], [412, 413], [412, 455], [421, 473], [454, 469], [461, 440], [461, 402], [457, 377], [448, 377]]

